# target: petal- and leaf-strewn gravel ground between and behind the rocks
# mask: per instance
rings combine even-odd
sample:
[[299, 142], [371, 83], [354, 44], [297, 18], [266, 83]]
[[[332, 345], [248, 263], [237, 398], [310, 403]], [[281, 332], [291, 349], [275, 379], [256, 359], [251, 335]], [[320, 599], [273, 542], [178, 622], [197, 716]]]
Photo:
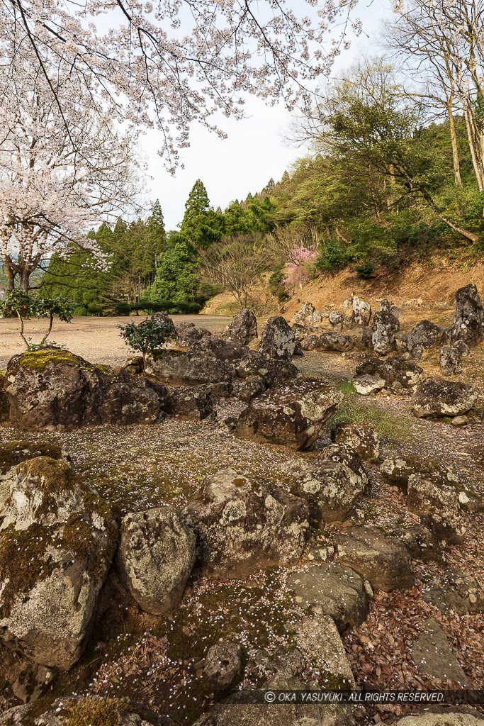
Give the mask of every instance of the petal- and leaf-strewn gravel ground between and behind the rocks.
[[[176, 317], [177, 323], [188, 320], [218, 332], [229, 318]], [[126, 318], [77, 318], [72, 326], [57, 324], [52, 338], [92, 362], [121, 364], [128, 356], [117, 330], [123, 322]], [[40, 326], [32, 324], [32, 331], [35, 329], [40, 332]], [[0, 320], [1, 367], [12, 354], [22, 350], [16, 335], [12, 320]], [[301, 372], [329, 378], [345, 392], [345, 400], [332, 421], [369, 421], [380, 431], [383, 455], [412, 452], [451, 463], [466, 486], [477, 494], [484, 493], [482, 423], [456, 429], [445, 422], [415, 419], [408, 396], [358, 396], [348, 383], [357, 362], [353, 356], [311, 352], [295, 362]], [[426, 372], [436, 372], [435, 356], [424, 359], [422, 366]], [[472, 380], [483, 391], [481, 349], [464, 359], [463, 380]], [[477, 409], [484, 414], [482, 398]], [[236, 439], [210, 420], [187, 423], [173, 419], [152, 426], [100, 426], [62, 434], [26, 435], [4, 427], [0, 436], [3, 441], [22, 438], [61, 444], [75, 470], [117, 505], [121, 513], [163, 504], [181, 507], [197, 491], [206, 474], [228, 466], [268, 486], [284, 486], [287, 482], [280, 471], [282, 463], [295, 455], [313, 457], [329, 441], [326, 432], [316, 443], [315, 451], [294, 454], [282, 446]], [[368, 472], [371, 485], [357, 502], [356, 521], [385, 526], [387, 531], [417, 521], [407, 510], [403, 493], [382, 481], [378, 466], [369, 465]], [[472, 683], [476, 688], [484, 688], [483, 616], [449, 619], [423, 600], [429, 583], [439, 579], [446, 566], [467, 568], [484, 585], [483, 524], [483, 513], [469, 514], [464, 543], [459, 547], [443, 544], [442, 565], [414, 561], [415, 586], [388, 594], [377, 592], [366, 623], [344, 635], [359, 687], [439, 687], [439, 682], [417, 674], [409, 658], [409, 648], [422, 631], [424, 619], [432, 617], [446, 632]], [[329, 526], [324, 531], [315, 531], [316, 542], [331, 542], [336, 529]], [[200, 672], [200, 666], [196, 667], [209, 645], [220, 637], [229, 638], [244, 645], [247, 653], [263, 648], [273, 658], [278, 649], [288, 652], [294, 647], [295, 632], [304, 613], [285, 585], [287, 574], [281, 568], [254, 576], [249, 582], [194, 578], [181, 607], [161, 618], [141, 613], [134, 600], [119, 587], [115, 575], [110, 576], [86, 653], [69, 674], [60, 674], [52, 697], [73, 691], [126, 696], [160, 714], [169, 714], [176, 724], [191, 724], [220, 698]], [[305, 682], [324, 687], [324, 674], [314, 666], [311, 653], [304, 656]], [[2, 707], [16, 703], [9, 688], [1, 685], [2, 669], [6, 674], [14, 667], [14, 661], [15, 656], [0, 647], [0, 712]], [[257, 685], [270, 667], [267, 658], [266, 664], [260, 666], [249, 661], [243, 685]], [[398, 709], [401, 707], [380, 706], [358, 716], [364, 721], [374, 717], [385, 720], [398, 715]]]

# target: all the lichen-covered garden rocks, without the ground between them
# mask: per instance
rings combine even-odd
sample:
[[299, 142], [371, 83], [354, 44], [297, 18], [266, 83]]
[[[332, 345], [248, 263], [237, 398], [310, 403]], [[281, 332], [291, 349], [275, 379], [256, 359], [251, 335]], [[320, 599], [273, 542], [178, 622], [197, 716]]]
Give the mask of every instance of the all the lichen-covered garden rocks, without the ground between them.
[[[212, 417], [235, 436], [304, 452], [321, 438], [344, 396], [324, 380], [298, 375], [292, 356], [300, 343], [303, 351], [368, 349], [353, 379], [362, 395], [382, 390], [408, 395], [417, 417], [467, 414], [477, 400], [472, 387], [424, 378], [414, 361], [442, 343], [443, 375], [462, 372], [462, 357], [484, 340], [475, 285], [457, 291], [454, 325], [446, 330], [422, 320], [401, 333], [401, 318], [401, 309], [386, 299], [374, 314], [356, 295], [342, 311], [316, 312], [304, 303], [292, 327], [281, 316], [268, 319], [254, 348], [257, 322], [242, 310], [220, 336], [191, 324], [179, 327], [176, 348], [149, 356], [142, 374], [139, 359], [109, 368], [58, 348], [29, 351], [8, 364], [0, 381], [0, 411], [10, 425], [31, 431]], [[321, 331], [326, 324], [331, 329]], [[234, 417], [217, 417], [221, 399], [237, 401]], [[302, 653], [309, 651], [337, 688], [352, 688], [340, 634], [366, 621], [375, 591], [413, 587], [412, 560], [440, 561], [442, 540], [462, 543], [469, 499], [454, 470], [438, 462], [403, 454], [382, 460], [380, 435], [369, 423], [337, 423], [330, 436], [332, 443], [316, 456], [295, 453], [282, 465], [276, 474], [287, 486], [268, 486], [247, 473], [221, 469], [206, 476], [183, 507], [160, 505], [123, 518], [75, 474], [62, 450], [13, 452], [13, 465], [0, 477], [0, 640], [32, 664], [35, 683], [24, 706], [0, 715], [0, 726], [67, 726], [75, 723], [73, 713], [86, 708], [86, 699], [72, 696], [60, 705], [48, 703], [37, 714], [29, 701], [81, 657], [109, 573], [141, 611], [160, 616], [179, 607], [194, 578], [227, 582], [292, 568], [287, 587], [306, 615], [295, 636], [297, 648], [281, 656], [265, 688], [305, 688]], [[383, 480], [403, 492], [418, 521], [391, 534], [350, 519], [371, 484], [368, 465], [378, 463]], [[314, 547], [311, 532], [327, 523], [340, 525], [337, 534], [327, 547]], [[484, 591], [459, 568], [448, 568], [426, 598], [443, 612], [484, 609]], [[231, 640], [208, 645], [200, 670], [217, 693], [227, 696], [237, 688], [247, 653]], [[469, 686], [432, 619], [425, 621], [410, 655], [419, 673], [432, 676], [446, 667], [447, 680]], [[232, 694], [194, 726], [354, 723], [348, 707], [261, 708], [242, 706]], [[122, 700], [111, 699], [109, 709], [116, 719], [110, 723], [120, 726], [170, 723], [144, 706], [128, 708]], [[483, 722], [452, 712], [445, 721], [433, 713], [398, 721], [399, 726], [420, 723]]]

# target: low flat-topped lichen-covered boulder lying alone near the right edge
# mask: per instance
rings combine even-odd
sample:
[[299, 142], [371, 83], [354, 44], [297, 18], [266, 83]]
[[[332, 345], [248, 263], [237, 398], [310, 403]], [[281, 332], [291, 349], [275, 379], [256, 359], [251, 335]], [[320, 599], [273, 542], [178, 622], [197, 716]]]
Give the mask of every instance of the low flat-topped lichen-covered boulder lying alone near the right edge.
[[425, 416], [462, 416], [477, 401], [477, 393], [467, 383], [434, 376], [419, 383], [412, 396], [414, 414]]

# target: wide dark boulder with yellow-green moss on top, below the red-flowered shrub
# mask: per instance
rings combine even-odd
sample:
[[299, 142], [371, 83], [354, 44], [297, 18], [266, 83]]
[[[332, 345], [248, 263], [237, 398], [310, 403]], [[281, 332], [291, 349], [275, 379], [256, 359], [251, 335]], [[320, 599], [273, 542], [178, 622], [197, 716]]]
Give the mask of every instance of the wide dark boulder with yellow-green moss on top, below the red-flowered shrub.
[[166, 389], [121, 368], [88, 363], [59, 348], [14, 356], [4, 390], [11, 423], [29, 430], [100, 423], [155, 423]]

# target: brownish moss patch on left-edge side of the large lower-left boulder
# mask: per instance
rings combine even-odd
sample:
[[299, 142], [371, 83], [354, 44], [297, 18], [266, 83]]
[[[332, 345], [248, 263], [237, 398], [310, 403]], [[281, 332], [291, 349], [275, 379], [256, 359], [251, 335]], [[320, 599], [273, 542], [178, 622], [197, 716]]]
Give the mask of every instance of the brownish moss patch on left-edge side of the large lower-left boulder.
[[17, 597], [28, 595], [37, 582], [52, 574], [52, 558], [46, 558], [49, 544], [54, 546], [49, 532], [40, 524], [16, 530], [13, 524], [0, 533], [0, 617], [8, 617]]

